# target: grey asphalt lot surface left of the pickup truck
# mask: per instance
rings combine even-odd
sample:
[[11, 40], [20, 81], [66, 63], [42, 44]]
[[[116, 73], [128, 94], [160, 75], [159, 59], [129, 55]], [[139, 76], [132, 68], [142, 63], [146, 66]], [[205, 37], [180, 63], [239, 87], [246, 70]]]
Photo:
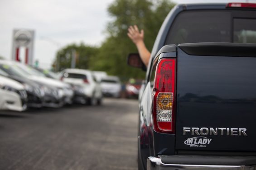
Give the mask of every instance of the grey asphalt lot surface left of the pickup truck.
[[138, 101], [0, 111], [0, 170], [137, 170]]

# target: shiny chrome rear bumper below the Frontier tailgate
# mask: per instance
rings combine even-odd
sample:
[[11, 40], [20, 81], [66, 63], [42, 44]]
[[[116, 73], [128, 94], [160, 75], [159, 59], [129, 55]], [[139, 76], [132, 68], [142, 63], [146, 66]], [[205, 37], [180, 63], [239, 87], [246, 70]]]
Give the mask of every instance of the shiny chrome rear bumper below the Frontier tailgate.
[[256, 170], [254, 166], [244, 165], [182, 165], [164, 164], [160, 158], [150, 156], [147, 160], [147, 170]]

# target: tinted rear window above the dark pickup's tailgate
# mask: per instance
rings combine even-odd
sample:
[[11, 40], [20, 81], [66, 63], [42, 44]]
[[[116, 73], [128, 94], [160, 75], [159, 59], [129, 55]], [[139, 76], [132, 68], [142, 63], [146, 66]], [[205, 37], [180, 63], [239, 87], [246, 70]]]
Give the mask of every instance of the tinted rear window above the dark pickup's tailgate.
[[175, 18], [165, 44], [256, 43], [256, 11], [193, 10]]

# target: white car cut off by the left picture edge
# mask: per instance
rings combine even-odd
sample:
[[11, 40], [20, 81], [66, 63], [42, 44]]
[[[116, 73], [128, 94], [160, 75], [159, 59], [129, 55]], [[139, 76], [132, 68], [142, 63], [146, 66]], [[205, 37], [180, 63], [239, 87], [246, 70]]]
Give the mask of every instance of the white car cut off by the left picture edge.
[[19, 82], [0, 76], [0, 96], [0, 110], [27, 109], [27, 93]]

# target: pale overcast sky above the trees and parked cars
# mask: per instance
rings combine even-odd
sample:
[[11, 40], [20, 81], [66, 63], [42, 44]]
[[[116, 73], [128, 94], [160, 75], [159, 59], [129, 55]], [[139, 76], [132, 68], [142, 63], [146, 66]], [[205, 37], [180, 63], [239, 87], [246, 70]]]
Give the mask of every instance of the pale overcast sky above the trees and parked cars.
[[[99, 46], [111, 20], [107, 6], [114, 0], [0, 0], [0, 56], [10, 59], [15, 28], [35, 31], [34, 60], [50, 68], [59, 48], [84, 42]], [[246, 0], [174, 0], [176, 3], [246, 2]], [[256, 3], [256, 0], [248, 0]], [[24, 49], [21, 50], [24, 57]]]

